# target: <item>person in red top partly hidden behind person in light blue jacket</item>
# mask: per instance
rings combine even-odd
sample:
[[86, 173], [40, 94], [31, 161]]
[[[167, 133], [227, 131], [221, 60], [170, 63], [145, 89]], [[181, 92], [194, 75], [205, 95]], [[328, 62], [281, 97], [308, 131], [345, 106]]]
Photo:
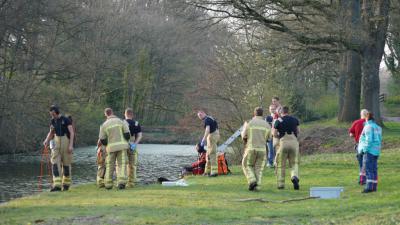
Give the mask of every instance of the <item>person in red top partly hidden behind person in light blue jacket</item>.
[[354, 138], [355, 144], [354, 144], [354, 149], [357, 152], [357, 160], [358, 160], [358, 165], [359, 165], [359, 171], [360, 171], [360, 177], [358, 183], [360, 185], [364, 185], [366, 181], [365, 177], [365, 166], [363, 163], [363, 157], [364, 154], [362, 152], [358, 152], [358, 142], [360, 140], [361, 133], [364, 129], [364, 123], [365, 123], [365, 118], [367, 117], [368, 110], [363, 109], [361, 110], [360, 117], [361, 119], [356, 120], [353, 122], [349, 129], [349, 135], [350, 137]]

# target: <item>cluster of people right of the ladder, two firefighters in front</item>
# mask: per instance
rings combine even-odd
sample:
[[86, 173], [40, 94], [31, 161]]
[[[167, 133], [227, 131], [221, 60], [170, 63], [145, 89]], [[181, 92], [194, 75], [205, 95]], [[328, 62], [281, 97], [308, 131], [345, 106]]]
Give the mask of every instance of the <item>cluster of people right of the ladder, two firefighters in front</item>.
[[[267, 160], [267, 167], [275, 167], [277, 188], [285, 188], [286, 163], [289, 163], [290, 177], [295, 190], [299, 185], [299, 121], [289, 115], [289, 107], [281, 106], [279, 98], [272, 98], [270, 115], [263, 116], [263, 109], [254, 109], [254, 117], [243, 125], [242, 139], [245, 152], [242, 161], [243, 172], [250, 191], [258, 191]], [[265, 144], [268, 147], [268, 156]], [[275, 155], [276, 153], [276, 155]]]

